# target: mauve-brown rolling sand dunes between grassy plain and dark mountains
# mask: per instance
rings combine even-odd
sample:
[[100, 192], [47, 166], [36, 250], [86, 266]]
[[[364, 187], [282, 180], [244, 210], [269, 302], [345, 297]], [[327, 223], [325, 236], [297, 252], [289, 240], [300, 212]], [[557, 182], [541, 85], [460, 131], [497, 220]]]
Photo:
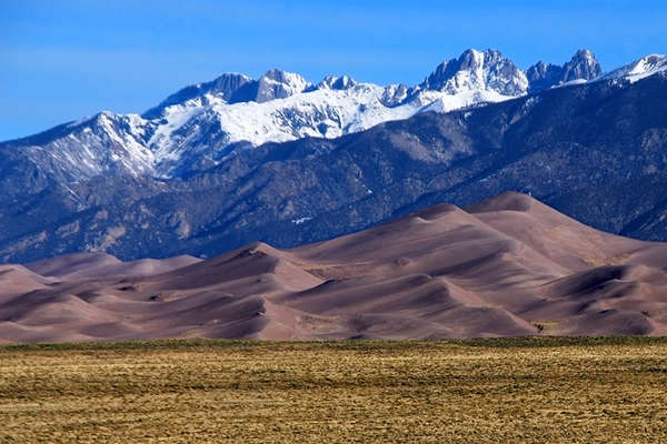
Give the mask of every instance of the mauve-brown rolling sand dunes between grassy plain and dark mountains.
[[667, 244], [518, 193], [293, 250], [0, 266], [1, 342], [581, 334], [667, 334]]

